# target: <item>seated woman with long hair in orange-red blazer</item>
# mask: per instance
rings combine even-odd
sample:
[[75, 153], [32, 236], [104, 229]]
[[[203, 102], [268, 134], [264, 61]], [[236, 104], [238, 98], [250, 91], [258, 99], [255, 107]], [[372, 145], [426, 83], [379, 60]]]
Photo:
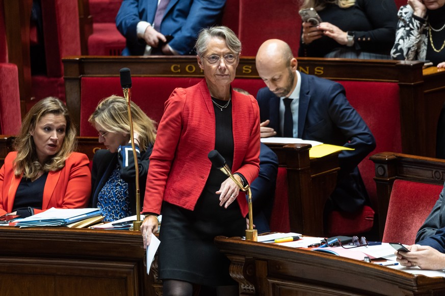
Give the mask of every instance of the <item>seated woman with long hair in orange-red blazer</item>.
[[91, 192], [89, 160], [73, 152], [75, 127], [57, 98], [36, 103], [25, 116], [14, 150], [0, 169], [0, 215], [22, 218], [50, 208], [85, 208]]

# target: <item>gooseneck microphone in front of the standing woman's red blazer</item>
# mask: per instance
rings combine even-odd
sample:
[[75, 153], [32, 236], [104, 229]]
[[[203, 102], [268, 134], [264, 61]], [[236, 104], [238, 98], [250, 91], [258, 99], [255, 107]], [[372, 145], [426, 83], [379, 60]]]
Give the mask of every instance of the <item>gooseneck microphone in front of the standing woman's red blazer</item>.
[[216, 151], [212, 150], [208, 153], [208, 159], [212, 162], [212, 165], [217, 169], [221, 170], [224, 174], [226, 174], [230, 179], [237, 184], [241, 191], [247, 192], [247, 203], [249, 205], [249, 229], [246, 229], [246, 240], [247, 241], [257, 241], [258, 233], [256, 229], [253, 229], [253, 210], [252, 210], [252, 190], [250, 189], [249, 184], [243, 186], [232, 174], [229, 166], [226, 163], [226, 160], [222, 155]]

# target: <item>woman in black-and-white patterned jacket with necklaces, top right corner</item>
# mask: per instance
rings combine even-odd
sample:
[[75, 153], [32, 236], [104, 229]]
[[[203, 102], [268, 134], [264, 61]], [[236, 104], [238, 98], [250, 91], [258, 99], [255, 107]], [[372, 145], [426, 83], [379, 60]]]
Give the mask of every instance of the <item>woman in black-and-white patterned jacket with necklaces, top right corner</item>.
[[445, 68], [445, 0], [408, 0], [399, 9], [395, 60], [430, 61]]

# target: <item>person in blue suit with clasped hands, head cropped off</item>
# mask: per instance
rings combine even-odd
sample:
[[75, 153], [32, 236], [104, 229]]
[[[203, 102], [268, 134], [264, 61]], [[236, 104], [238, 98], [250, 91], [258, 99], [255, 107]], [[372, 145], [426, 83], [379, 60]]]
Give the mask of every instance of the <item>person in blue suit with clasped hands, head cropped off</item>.
[[[215, 25], [226, 0], [124, 0], [116, 26], [126, 39], [122, 55], [194, 54], [201, 28]], [[167, 40], [173, 38], [170, 42]]]

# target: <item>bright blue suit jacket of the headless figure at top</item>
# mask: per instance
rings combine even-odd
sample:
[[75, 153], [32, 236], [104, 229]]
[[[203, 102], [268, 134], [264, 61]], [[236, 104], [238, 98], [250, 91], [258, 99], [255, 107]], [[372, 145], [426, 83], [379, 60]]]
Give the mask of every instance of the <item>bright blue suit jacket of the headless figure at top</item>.
[[[169, 45], [179, 54], [193, 54], [198, 32], [203, 27], [216, 24], [225, 0], [171, 0], [162, 19], [161, 33], [174, 38]], [[122, 55], [143, 55], [145, 41], [138, 39], [138, 22], [153, 24], [158, 0], [124, 0], [116, 16], [116, 26], [126, 38]]]

